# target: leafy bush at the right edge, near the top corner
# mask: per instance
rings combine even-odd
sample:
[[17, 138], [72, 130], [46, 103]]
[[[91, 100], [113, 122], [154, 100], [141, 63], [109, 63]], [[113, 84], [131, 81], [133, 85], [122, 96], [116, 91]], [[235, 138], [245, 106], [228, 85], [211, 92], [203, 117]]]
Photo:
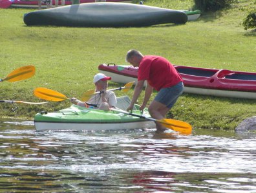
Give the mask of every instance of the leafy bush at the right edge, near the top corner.
[[248, 15], [242, 23], [244, 30], [248, 30], [249, 28], [256, 29], [256, 0], [245, 8], [242, 8], [242, 10], [248, 12]]

